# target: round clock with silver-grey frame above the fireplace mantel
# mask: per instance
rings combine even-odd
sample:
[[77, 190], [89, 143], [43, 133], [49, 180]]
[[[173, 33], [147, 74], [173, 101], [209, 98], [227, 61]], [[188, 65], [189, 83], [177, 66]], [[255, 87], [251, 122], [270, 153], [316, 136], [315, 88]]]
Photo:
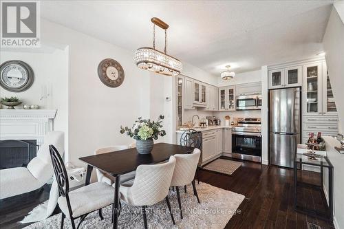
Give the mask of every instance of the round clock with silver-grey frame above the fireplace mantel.
[[12, 92], [29, 89], [34, 83], [34, 71], [23, 61], [6, 61], [0, 65], [0, 85]]

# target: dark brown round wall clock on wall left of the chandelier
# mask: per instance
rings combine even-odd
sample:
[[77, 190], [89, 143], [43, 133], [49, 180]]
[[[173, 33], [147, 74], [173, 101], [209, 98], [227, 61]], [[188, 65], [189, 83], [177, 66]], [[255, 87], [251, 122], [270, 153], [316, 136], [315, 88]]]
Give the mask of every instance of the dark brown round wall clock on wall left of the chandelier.
[[114, 59], [105, 59], [98, 65], [98, 76], [107, 87], [118, 87], [125, 80], [125, 71]]

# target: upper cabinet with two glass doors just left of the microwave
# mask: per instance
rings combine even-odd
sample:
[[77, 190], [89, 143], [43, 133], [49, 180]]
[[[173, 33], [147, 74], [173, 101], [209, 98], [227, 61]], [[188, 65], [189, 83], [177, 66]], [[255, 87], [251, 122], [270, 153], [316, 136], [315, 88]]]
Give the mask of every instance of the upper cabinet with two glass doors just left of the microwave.
[[235, 86], [220, 87], [219, 94], [219, 111], [235, 111]]

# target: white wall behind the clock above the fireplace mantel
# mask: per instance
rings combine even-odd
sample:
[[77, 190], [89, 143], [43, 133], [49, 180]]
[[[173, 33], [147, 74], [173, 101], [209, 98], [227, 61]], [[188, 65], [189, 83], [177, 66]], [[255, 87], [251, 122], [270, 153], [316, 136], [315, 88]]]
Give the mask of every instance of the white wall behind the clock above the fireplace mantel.
[[[0, 97], [17, 96], [22, 105], [40, 105], [41, 109], [58, 109], [54, 120], [54, 130], [65, 132], [65, 144], [68, 144], [68, 48], [53, 47], [37, 49], [1, 50], [0, 63], [19, 60], [28, 63], [34, 71], [34, 83], [22, 92], [11, 92], [0, 88]], [[51, 85], [51, 87], [50, 87]], [[50, 91], [50, 96], [40, 100], [42, 87]], [[50, 90], [48, 88], [51, 88]], [[23, 109], [23, 106], [16, 109]], [[67, 150], [65, 154], [68, 155]]]

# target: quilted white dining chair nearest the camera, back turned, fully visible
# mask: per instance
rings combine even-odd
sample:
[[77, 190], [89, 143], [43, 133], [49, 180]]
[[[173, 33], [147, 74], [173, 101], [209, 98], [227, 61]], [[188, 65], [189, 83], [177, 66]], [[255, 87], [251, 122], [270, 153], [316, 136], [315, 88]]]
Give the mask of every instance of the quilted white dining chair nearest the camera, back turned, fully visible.
[[136, 169], [136, 177], [133, 181], [120, 185], [120, 199], [132, 206], [141, 206], [144, 228], [147, 226], [147, 206], [157, 204], [163, 199], [175, 224], [171, 204], [169, 201], [169, 187], [175, 167], [175, 157], [163, 164], [143, 164]]

